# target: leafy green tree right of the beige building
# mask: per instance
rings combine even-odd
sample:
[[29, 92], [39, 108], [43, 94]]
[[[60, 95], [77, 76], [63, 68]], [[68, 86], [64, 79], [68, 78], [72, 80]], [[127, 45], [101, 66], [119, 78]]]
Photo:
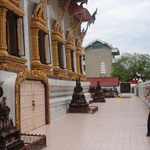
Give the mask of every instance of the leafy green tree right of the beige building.
[[150, 80], [150, 55], [124, 53], [113, 64], [111, 76], [119, 77], [122, 82], [128, 82], [134, 77], [141, 77], [143, 81]]

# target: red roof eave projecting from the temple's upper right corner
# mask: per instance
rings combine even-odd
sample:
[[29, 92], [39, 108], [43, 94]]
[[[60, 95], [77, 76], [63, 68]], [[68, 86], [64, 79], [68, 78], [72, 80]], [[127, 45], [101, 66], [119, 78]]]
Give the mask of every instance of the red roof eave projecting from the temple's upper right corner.
[[70, 12], [74, 13], [74, 16], [78, 20], [80, 20], [81, 14], [84, 13], [85, 16], [83, 17], [82, 21], [90, 21], [91, 23], [94, 23], [94, 19], [90, 15], [89, 11], [82, 6], [77, 5], [76, 3], [71, 3]]

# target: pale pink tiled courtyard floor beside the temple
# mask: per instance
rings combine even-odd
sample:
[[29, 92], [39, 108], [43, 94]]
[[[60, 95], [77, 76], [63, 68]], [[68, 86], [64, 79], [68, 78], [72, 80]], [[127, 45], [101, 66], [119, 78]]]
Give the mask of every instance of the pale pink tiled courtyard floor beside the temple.
[[45, 134], [44, 150], [150, 150], [148, 107], [138, 97], [93, 103], [95, 114], [66, 114], [32, 133]]

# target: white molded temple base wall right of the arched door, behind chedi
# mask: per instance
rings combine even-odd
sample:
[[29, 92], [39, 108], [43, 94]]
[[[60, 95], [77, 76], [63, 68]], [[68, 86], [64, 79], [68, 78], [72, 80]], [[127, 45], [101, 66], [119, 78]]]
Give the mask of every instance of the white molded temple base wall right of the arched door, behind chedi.
[[[50, 84], [50, 118], [62, 116], [67, 113], [67, 108], [72, 99], [75, 81], [65, 81], [58, 79], [49, 79]], [[90, 94], [88, 93], [89, 82], [81, 82], [86, 100], [89, 101]]]

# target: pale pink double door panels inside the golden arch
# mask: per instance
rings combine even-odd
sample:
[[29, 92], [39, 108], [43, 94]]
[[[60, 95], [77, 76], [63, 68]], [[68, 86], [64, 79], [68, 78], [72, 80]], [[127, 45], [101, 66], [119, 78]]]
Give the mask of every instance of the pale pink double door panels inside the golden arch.
[[45, 88], [41, 81], [21, 83], [20, 109], [22, 133], [45, 125]]

